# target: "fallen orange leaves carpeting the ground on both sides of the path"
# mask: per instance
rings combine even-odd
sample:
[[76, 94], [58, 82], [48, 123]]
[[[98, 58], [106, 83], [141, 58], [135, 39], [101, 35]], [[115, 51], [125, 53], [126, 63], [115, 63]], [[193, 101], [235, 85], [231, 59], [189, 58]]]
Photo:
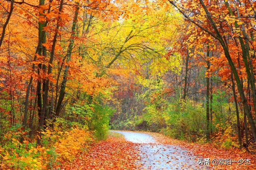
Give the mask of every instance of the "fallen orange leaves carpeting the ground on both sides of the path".
[[[197, 162], [197, 158], [210, 158], [213, 159], [250, 159], [250, 165], [245, 165], [244, 163], [238, 165], [238, 163], [232, 163], [232, 165], [218, 165], [213, 166], [210, 163], [210, 169], [222, 169], [222, 170], [254, 170], [256, 169], [254, 155], [248, 152], [241, 151], [239, 149], [224, 150], [213, 147], [210, 144], [197, 144], [189, 143], [187, 141], [180, 141], [176, 139], [171, 139], [160, 133], [144, 132], [154, 137], [156, 144], [144, 144], [144, 143], [132, 143], [124, 139], [122, 135], [117, 133], [110, 133], [106, 141], [100, 141], [95, 143], [87, 152], [84, 152], [79, 158], [74, 160], [72, 164], [64, 167], [64, 169], [88, 169], [88, 170], [135, 170], [144, 169], [145, 162], [141, 160], [147, 160], [140, 155], [140, 149], [144, 146], [149, 146], [149, 148], [154, 148], [159, 144], [161, 146], [172, 146], [181, 148], [180, 150], [188, 151], [187, 154], [191, 155], [192, 161]], [[159, 149], [156, 149], [159, 150]], [[142, 150], [143, 151], [143, 150]], [[160, 155], [161, 153], [153, 153]], [[162, 153], [164, 154], [164, 153]], [[170, 154], [182, 154], [179, 150], [175, 153]], [[163, 160], [162, 157], [166, 155], [160, 155], [158, 161]], [[187, 155], [188, 156], [188, 155]], [[196, 157], [195, 157], [196, 156]], [[144, 155], [145, 157], [145, 155]], [[182, 156], [181, 156], [182, 157]], [[175, 156], [168, 156], [168, 159], [177, 159]], [[149, 159], [150, 160], [150, 159]], [[143, 164], [141, 164], [141, 162]], [[150, 163], [150, 162], [149, 162]], [[186, 165], [186, 162], [177, 160], [168, 160], [166, 164], [173, 164], [172, 167], [182, 167], [181, 169], [187, 169], [190, 166]], [[177, 165], [175, 165], [177, 164]], [[180, 164], [180, 166], [178, 165]], [[150, 165], [150, 164], [149, 164]], [[151, 165], [150, 165], [151, 166]], [[150, 166], [147, 166], [150, 169]], [[156, 167], [156, 166], [153, 166]], [[196, 166], [197, 169], [203, 166]], [[191, 167], [190, 167], [191, 168]], [[154, 168], [152, 168], [154, 169]], [[162, 169], [162, 168], [161, 168]], [[179, 169], [179, 168], [177, 168]], [[193, 168], [192, 168], [193, 169]]]

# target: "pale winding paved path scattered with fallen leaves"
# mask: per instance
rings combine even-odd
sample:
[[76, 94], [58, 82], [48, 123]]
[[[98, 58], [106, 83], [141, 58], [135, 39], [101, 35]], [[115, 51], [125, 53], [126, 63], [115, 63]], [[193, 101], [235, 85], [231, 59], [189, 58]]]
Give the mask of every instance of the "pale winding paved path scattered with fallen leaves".
[[180, 170], [180, 169], [210, 169], [198, 165], [195, 155], [186, 149], [174, 145], [157, 143], [151, 135], [138, 132], [112, 131], [124, 135], [127, 141], [139, 143], [140, 169], [152, 170]]

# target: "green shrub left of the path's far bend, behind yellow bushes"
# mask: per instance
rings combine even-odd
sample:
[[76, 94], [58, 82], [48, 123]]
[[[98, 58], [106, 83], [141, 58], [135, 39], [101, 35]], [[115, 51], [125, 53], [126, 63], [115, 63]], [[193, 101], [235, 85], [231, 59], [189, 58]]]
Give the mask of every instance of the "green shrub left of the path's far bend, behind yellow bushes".
[[98, 94], [91, 103], [77, 102], [69, 107], [62, 122], [63, 127], [83, 127], [94, 131], [95, 137], [105, 139], [109, 129], [110, 116], [114, 112], [112, 107], [104, 104], [104, 95]]

